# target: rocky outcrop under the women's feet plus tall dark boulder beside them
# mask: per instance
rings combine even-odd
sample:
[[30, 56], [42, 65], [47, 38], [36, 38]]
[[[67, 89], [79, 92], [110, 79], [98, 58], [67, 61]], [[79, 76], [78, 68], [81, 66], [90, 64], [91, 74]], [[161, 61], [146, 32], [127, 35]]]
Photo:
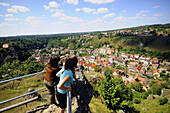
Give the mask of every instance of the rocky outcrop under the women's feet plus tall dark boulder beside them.
[[[73, 113], [90, 113], [89, 103], [93, 96], [93, 87], [85, 77], [83, 70], [77, 68], [75, 78], [71, 84], [72, 112]], [[59, 107], [56, 105], [42, 105], [36, 107], [27, 113], [58, 113]], [[66, 112], [66, 111], [65, 111]]]

